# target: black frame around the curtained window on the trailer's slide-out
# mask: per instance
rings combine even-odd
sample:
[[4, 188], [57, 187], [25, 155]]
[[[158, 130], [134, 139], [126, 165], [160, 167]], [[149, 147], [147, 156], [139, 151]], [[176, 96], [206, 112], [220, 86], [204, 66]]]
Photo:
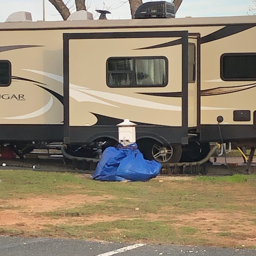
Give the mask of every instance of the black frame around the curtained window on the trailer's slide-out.
[[[125, 71], [127, 73], [132, 73], [132, 79], [133, 79], [133, 82], [135, 81], [135, 61], [134, 59], [144, 59], [144, 60], [156, 60], [156, 59], [164, 59], [165, 60], [165, 83], [164, 84], [160, 84], [160, 85], [157, 85], [157, 84], [127, 84], [127, 85], [120, 85], [120, 86], [112, 86], [108, 83], [108, 75], [109, 73], [124, 73], [124, 70], [120, 70], [120, 71], [109, 71], [108, 70], [108, 60], [110, 59], [132, 59], [132, 66], [133, 66], [133, 70], [132, 71]], [[128, 56], [128, 57], [109, 57], [106, 61], [106, 83], [107, 83], [107, 86], [109, 88], [148, 88], [148, 87], [155, 87], [155, 88], [158, 88], [158, 87], [165, 87], [167, 86], [168, 84], [168, 69], [169, 69], [169, 65], [168, 65], [168, 59], [167, 57], [165, 56]]]

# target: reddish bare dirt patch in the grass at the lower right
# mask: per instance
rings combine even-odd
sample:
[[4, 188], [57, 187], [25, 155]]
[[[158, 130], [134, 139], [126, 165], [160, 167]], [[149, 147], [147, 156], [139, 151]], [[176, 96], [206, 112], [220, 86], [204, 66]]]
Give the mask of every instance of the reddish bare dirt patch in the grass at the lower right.
[[256, 229], [252, 225], [253, 219], [255, 216], [244, 215], [242, 212], [202, 211], [175, 216], [172, 220], [175, 228], [190, 226], [199, 230], [202, 238], [212, 240], [209, 245], [221, 245], [225, 239], [225, 244], [229, 246], [255, 246]]

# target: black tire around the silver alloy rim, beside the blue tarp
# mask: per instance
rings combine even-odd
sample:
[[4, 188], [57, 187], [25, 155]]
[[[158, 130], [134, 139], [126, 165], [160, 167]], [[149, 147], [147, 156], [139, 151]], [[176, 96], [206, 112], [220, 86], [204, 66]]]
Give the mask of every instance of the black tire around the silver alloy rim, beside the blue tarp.
[[[137, 142], [140, 152], [147, 160], [156, 160], [160, 163], [177, 163], [180, 160], [182, 149], [180, 145], [163, 145], [160, 142], [153, 139], [141, 139]], [[152, 153], [152, 149], [155, 145], [161, 145], [163, 148], [172, 149], [171, 156], [168, 156], [166, 161], [164, 159], [157, 159]], [[162, 161], [161, 161], [162, 160]]]

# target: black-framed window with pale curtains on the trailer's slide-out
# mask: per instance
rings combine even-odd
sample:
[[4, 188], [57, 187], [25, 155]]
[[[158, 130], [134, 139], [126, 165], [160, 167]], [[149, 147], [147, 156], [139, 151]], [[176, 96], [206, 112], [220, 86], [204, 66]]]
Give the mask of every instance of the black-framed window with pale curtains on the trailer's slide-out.
[[109, 87], [164, 87], [168, 60], [165, 57], [127, 57], [107, 60]]

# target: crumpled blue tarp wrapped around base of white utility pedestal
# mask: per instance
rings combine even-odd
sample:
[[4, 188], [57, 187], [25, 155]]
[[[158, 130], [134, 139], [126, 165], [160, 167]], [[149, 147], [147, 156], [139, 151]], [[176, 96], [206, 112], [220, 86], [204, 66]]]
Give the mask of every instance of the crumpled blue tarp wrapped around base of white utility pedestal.
[[158, 175], [161, 164], [146, 160], [136, 143], [109, 147], [103, 152], [92, 178], [108, 181], [147, 181]]

